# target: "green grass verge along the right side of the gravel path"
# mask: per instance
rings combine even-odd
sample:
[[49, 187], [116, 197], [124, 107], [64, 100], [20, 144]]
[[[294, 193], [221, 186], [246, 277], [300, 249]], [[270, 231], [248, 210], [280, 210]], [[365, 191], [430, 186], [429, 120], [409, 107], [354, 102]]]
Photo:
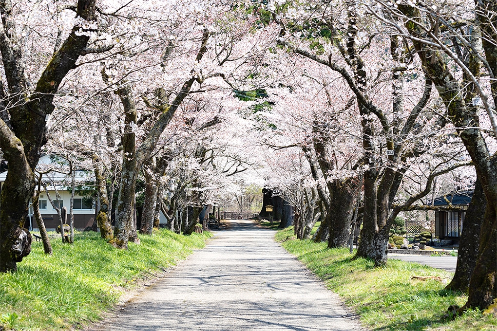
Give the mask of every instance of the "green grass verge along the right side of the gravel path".
[[440, 281], [411, 279], [438, 276], [450, 281], [450, 272], [399, 260], [375, 268], [371, 261], [352, 260], [348, 249], [297, 240], [293, 227], [279, 231], [276, 240], [338, 293], [368, 329], [497, 330], [497, 320], [480, 311], [469, 311], [453, 321], [444, 318], [450, 305], [464, 305], [467, 296], [445, 290]]

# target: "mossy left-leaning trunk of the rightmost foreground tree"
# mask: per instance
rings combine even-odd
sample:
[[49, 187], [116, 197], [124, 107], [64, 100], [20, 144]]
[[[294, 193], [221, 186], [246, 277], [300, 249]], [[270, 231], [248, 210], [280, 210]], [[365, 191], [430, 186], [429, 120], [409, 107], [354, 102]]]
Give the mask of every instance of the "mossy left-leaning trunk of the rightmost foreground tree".
[[[482, 15], [477, 17], [490, 17], [491, 12], [497, 8], [496, 1], [488, 2], [486, 5], [492, 8], [480, 7]], [[421, 15], [417, 8], [400, 5], [399, 9], [415, 22], [406, 22], [409, 32], [416, 38], [424, 38]], [[490, 16], [486, 16], [490, 15]], [[493, 16], [495, 17], [495, 15]], [[419, 24], [418, 24], [419, 23]], [[492, 40], [496, 40], [496, 33], [492, 29], [488, 30]], [[474, 82], [464, 72], [464, 81], [458, 83], [457, 79], [449, 71], [442, 55], [438, 49], [431, 49], [429, 45], [413, 41], [416, 52], [421, 60], [425, 75], [430, 77], [448, 109], [450, 121], [457, 129], [461, 140], [474, 162], [477, 176], [482, 184], [483, 192], [487, 200], [485, 218], [482, 224], [480, 235], [479, 257], [475, 270], [471, 276], [468, 289], [468, 302], [461, 308], [461, 311], [467, 308], [478, 308], [485, 310], [489, 308], [497, 298], [497, 155], [491, 155], [485, 137], [480, 131], [480, 120], [478, 108], [470, 102], [474, 95]], [[485, 49], [487, 59], [495, 59], [493, 53], [495, 48]], [[488, 52], [492, 54], [487, 54]], [[474, 60], [474, 59], [472, 59]], [[494, 76], [497, 74], [497, 66], [494, 63], [492, 68]], [[476, 72], [476, 74], [478, 74]], [[497, 316], [497, 308], [492, 305], [492, 313]]]

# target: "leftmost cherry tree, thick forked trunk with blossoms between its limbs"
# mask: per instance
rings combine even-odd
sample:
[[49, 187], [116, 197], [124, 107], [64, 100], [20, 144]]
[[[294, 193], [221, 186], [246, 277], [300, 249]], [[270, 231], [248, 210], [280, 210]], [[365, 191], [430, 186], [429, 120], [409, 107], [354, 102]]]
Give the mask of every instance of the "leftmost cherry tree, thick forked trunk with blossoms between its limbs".
[[[1, 193], [1, 272], [15, 271], [16, 263], [31, 250], [31, 236], [22, 229], [22, 224], [34, 192], [33, 169], [38, 163], [40, 149], [46, 143], [46, 118], [55, 108], [54, 96], [64, 77], [87, 50], [96, 32], [95, 1], [77, 1], [68, 7], [76, 15], [69, 16], [71, 23], [65, 24], [60, 33], [60, 40], [64, 41], [54, 45], [59, 31], [55, 27], [57, 22], [51, 21], [50, 13], [42, 9], [42, 5], [33, 4], [0, 3], [3, 63], [0, 148], [10, 169], [15, 169], [8, 173]], [[54, 7], [49, 6], [49, 9]], [[33, 24], [36, 23], [44, 30], [39, 30], [42, 33], [35, 36]], [[26, 47], [30, 41], [52, 47], [35, 53], [36, 61], [31, 66], [27, 61], [34, 52], [30, 53]], [[52, 55], [54, 46], [56, 50]], [[44, 62], [39, 63], [40, 59]]]

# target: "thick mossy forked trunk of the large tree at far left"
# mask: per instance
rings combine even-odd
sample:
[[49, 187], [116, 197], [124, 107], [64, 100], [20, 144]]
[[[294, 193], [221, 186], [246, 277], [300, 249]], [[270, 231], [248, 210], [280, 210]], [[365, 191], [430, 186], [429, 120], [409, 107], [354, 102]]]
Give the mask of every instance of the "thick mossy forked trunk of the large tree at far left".
[[[35, 169], [40, 158], [41, 147], [46, 143], [46, 116], [55, 108], [53, 99], [60, 83], [71, 70], [80, 54], [85, 49], [89, 36], [83, 32], [91, 32], [79, 26], [73, 27], [62, 46], [55, 52], [45, 67], [32, 93], [29, 93], [30, 80], [24, 72], [22, 50], [14, 43], [20, 40], [16, 36], [15, 17], [12, 17], [12, 4], [3, 1], [0, 13], [0, 52], [3, 69], [8, 85], [9, 100], [13, 107], [8, 109], [10, 118], [0, 119], [0, 148], [9, 163], [10, 169], [1, 191], [0, 211], [0, 272], [15, 271], [16, 262], [29, 254], [31, 248], [27, 244], [21, 253], [14, 252], [12, 245], [19, 238], [22, 226], [28, 213], [29, 199], [34, 194]], [[94, 21], [94, 0], [78, 0], [76, 14], [83, 20]], [[89, 24], [90, 26], [91, 24]], [[94, 31], [93, 31], [94, 32]], [[2, 86], [3, 88], [3, 86]], [[6, 106], [6, 105], [3, 105]], [[29, 232], [27, 238], [31, 239]]]

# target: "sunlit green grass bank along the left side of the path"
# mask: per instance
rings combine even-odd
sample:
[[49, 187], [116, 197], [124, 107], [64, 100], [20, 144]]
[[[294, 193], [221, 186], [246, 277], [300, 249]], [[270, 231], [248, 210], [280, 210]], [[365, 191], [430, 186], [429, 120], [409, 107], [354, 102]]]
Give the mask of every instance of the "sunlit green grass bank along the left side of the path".
[[174, 265], [204, 247], [210, 236], [160, 230], [140, 235], [141, 244], [129, 244], [125, 251], [84, 232], [73, 245], [53, 238], [53, 256], [33, 242], [17, 272], [0, 274], [0, 330], [67, 330], [95, 321], [140, 278]]

